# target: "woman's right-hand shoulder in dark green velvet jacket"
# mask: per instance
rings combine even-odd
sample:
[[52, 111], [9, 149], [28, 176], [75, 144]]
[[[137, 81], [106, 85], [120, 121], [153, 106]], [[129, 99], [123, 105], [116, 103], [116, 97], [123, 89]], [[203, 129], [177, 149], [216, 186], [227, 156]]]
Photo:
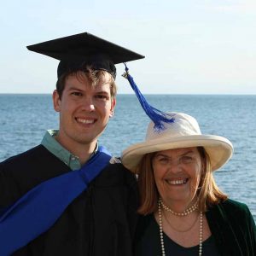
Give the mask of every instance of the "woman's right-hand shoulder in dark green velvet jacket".
[[245, 203], [228, 199], [210, 207], [206, 215], [219, 248], [228, 255], [254, 255], [256, 228]]

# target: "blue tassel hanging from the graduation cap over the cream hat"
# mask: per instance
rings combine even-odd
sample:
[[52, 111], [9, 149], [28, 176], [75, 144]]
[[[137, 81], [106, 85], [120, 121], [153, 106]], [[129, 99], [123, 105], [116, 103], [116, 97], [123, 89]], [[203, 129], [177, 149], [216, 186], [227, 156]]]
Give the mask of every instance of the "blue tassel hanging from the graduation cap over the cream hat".
[[123, 74], [123, 77], [125, 77], [125, 79], [129, 81], [129, 83], [131, 84], [131, 88], [135, 91], [137, 99], [141, 103], [145, 113], [147, 113], [148, 117], [154, 122], [154, 131], [165, 130], [164, 123], [173, 123], [174, 118], [148, 104], [147, 100], [145, 99], [141, 91], [138, 89], [137, 84], [135, 84], [133, 78], [131, 77], [128, 71], [129, 68], [125, 64], [125, 73]]

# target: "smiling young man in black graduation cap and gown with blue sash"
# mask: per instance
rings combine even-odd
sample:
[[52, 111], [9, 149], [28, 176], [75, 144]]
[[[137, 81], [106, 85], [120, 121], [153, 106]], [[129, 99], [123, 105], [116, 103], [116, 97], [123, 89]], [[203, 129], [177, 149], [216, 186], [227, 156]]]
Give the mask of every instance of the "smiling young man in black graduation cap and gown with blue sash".
[[[0, 247], [6, 247], [2, 252], [15, 256], [131, 255], [137, 219], [136, 180], [131, 172], [111, 157], [94, 178], [84, 181], [81, 192], [76, 192], [69, 202], [63, 198], [81, 185], [76, 185], [72, 176], [68, 176], [67, 185], [59, 186], [59, 182], [62, 177], [78, 173], [75, 170], [83, 166], [86, 175], [87, 163], [98, 168], [96, 155], [102, 149], [97, 138], [113, 116], [116, 102], [114, 64], [143, 56], [88, 33], [35, 44], [28, 49], [60, 60], [53, 93], [60, 127], [58, 131], [47, 131], [37, 147], [0, 164], [0, 232], [1, 222], [4, 229], [8, 221], [12, 224], [13, 216], [18, 217], [12, 228], [6, 228], [6, 236], [14, 241], [4, 241], [6, 236], [2, 234]], [[68, 190], [69, 184], [73, 189]], [[49, 190], [49, 185], [53, 190]], [[55, 199], [58, 196], [60, 201]], [[16, 201], [19, 203], [13, 208]], [[32, 213], [27, 213], [29, 207]], [[38, 210], [40, 207], [43, 210]], [[63, 211], [53, 213], [59, 207]], [[54, 214], [55, 220], [48, 221]], [[25, 222], [20, 235], [16, 228], [20, 229]], [[44, 228], [41, 222], [46, 223]]]

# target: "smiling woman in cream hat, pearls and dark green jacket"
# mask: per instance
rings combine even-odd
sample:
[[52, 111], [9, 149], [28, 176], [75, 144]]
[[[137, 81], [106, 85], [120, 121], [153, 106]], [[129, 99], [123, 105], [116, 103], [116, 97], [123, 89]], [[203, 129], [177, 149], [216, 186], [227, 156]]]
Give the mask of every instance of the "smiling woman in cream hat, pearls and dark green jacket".
[[169, 114], [172, 124], [154, 131], [151, 122], [145, 142], [122, 155], [140, 189], [135, 255], [256, 255], [251, 212], [228, 199], [212, 175], [230, 159], [232, 144], [202, 135], [188, 114]]

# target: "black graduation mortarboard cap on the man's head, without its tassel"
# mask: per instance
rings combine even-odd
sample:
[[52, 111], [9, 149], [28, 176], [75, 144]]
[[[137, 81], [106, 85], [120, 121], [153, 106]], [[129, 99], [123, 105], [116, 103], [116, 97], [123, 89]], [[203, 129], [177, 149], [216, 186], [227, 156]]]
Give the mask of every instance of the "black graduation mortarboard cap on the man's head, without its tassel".
[[66, 72], [78, 71], [88, 65], [92, 69], [105, 70], [116, 77], [114, 64], [143, 59], [130, 49], [110, 43], [84, 32], [65, 38], [57, 38], [27, 46], [27, 49], [60, 60], [58, 78]]

